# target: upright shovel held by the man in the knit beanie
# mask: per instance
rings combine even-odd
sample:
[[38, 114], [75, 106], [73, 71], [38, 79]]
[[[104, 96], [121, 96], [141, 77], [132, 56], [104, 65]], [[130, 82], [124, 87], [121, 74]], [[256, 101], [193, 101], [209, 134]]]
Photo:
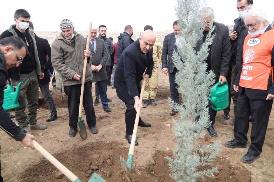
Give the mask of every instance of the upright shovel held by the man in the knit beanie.
[[[92, 25], [92, 23], [90, 22], [88, 37], [87, 37], [87, 41], [86, 41], [86, 51], [89, 50], [89, 45], [90, 45], [91, 25]], [[83, 96], [84, 96], [84, 86], [85, 86], [85, 78], [86, 78], [86, 63], [87, 63], [87, 57], [85, 57], [85, 61], [84, 61], [81, 96], [80, 96], [80, 104], [79, 104], [79, 115], [78, 115], [78, 123], [77, 123], [77, 128], [78, 128], [79, 134], [83, 140], [86, 140], [86, 136], [87, 136], [85, 121], [82, 120]]]

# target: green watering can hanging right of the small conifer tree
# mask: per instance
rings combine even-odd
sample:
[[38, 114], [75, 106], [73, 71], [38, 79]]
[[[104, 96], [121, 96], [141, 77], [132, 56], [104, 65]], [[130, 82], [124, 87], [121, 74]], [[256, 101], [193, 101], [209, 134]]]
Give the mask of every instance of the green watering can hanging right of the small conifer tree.
[[221, 84], [221, 82], [218, 82], [210, 90], [210, 93], [211, 93], [211, 98], [209, 98], [209, 102], [213, 110], [220, 111], [228, 107], [229, 93], [228, 93], [227, 82], [225, 84]]

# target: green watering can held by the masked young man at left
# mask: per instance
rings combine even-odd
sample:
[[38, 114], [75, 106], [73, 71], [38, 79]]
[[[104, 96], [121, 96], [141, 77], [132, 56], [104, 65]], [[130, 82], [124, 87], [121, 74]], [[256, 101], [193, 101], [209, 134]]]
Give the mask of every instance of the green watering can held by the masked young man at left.
[[7, 84], [7, 88], [4, 90], [4, 103], [2, 105], [4, 110], [10, 110], [10, 109], [19, 107], [18, 97], [19, 97], [20, 86], [22, 85], [22, 83], [23, 82], [20, 82], [18, 84], [15, 92], [12, 86]]

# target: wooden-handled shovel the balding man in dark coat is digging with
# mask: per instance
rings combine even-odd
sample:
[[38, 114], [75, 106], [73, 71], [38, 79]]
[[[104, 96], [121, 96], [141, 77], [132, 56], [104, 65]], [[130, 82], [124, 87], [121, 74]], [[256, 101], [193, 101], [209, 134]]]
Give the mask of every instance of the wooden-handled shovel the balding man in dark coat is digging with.
[[[146, 79], [143, 79], [142, 89], [141, 89], [141, 94], [140, 94], [140, 102], [141, 103], [142, 103], [142, 99], [143, 99], [145, 85], [146, 85]], [[142, 174], [141, 172], [132, 169], [132, 161], [133, 161], [133, 154], [134, 154], [134, 147], [135, 147], [135, 140], [136, 140], [136, 135], [137, 135], [139, 118], [140, 118], [140, 112], [141, 112], [141, 107], [138, 106], [136, 117], [135, 117], [133, 133], [132, 133], [132, 139], [131, 139], [129, 152], [128, 152], [128, 161], [125, 161], [121, 155], [120, 155], [120, 160], [121, 160], [123, 171], [129, 181], [144, 182], [144, 181], [151, 181], [151, 180], [149, 180], [149, 178], [146, 177], [145, 174]]]

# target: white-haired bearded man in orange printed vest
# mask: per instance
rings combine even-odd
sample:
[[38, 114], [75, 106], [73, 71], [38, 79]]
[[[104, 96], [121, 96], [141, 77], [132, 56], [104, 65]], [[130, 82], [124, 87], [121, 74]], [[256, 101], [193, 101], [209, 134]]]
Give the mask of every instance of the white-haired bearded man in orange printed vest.
[[246, 148], [249, 116], [252, 114], [251, 145], [241, 158], [252, 163], [260, 157], [274, 99], [274, 30], [262, 10], [252, 9], [245, 18], [248, 35], [244, 40], [243, 62], [234, 90], [239, 93], [235, 112], [234, 140], [229, 148]]

